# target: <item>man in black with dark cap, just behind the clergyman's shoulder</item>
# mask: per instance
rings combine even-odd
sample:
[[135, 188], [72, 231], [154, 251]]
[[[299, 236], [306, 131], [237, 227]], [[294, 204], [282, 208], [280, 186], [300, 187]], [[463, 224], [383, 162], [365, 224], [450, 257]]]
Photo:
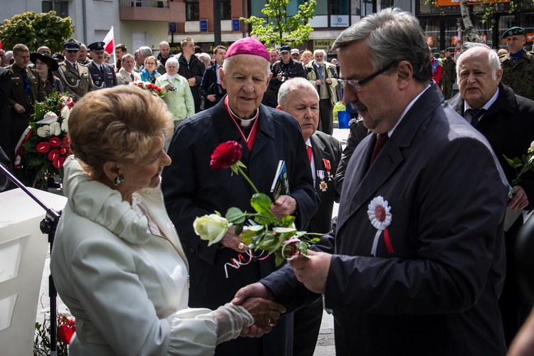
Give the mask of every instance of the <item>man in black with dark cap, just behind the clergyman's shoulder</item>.
[[290, 51], [290, 46], [282, 46], [280, 48], [281, 60], [273, 64], [273, 78], [271, 78], [268, 88], [273, 95], [266, 94], [266, 96], [271, 99], [271, 102], [267, 103], [263, 101], [263, 104], [271, 106], [272, 108], [278, 106], [278, 90], [284, 81], [297, 77], [306, 78], [302, 62], [292, 59]]

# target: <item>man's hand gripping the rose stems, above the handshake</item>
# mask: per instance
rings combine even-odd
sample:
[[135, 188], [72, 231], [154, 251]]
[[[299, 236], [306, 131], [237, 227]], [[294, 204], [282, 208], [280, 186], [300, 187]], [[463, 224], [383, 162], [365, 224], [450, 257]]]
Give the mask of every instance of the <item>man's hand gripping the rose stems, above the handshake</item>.
[[314, 293], [325, 293], [326, 278], [330, 269], [330, 253], [308, 250], [310, 258], [299, 256], [288, 263], [293, 267], [300, 283]]

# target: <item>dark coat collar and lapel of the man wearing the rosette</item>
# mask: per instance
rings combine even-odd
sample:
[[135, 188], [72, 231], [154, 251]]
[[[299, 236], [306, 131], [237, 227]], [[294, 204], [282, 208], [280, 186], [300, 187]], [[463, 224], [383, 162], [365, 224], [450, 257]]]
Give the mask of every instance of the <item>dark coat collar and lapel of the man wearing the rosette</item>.
[[[414, 103], [402, 121], [399, 122], [392, 137], [389, 138], [380, 152], [379, 157], [377, 157], [369, 169], [367, 167], [369, 167], [370, 155], [375, 147], [376, 137], [370, 137], [367, 146], [362, 152], [363, 154], [357, 159], [355, 165], [349, 164], [349, 167], [352, 167], [350, 167], [350, 171], [347, 170], [347, 174], [354, 174], [354, 177], [345, 177], [345, 182], [343, 183], [343, 187], [350, 187], [350, 189], [347, 189], [347, 194], [350, 195], [347, 199], [344, 199], [346, 209], [343, 214], [340, 214], [340, 219], [337, 221], [338, 229], [358, 209], [367, 209], [367, 204], [377, 196], [377, 190], [385, 186], [387, 179], [402, 164], [404, 161], [402, 150], [412, 145], [412, 141], [415, 135], [417, 135], [422, 123], [444, 101], [443, 95], [432, 93], [437, 90], [439, 89], [433, 84], [431, 88], [419, 97], [419, 100]], [[346, 181], [347, 178], [350, 179], [348, 182]]]

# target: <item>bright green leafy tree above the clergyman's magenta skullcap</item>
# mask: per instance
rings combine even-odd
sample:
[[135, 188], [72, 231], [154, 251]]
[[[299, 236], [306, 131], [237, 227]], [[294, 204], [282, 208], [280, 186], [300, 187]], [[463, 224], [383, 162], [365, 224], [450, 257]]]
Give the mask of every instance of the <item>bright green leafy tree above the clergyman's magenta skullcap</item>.
[[265, 7], [261, 10], [267, 16], [251, 16], [248, 19], [241, 18], [241, 21], [252, 25], [251, 35], [256, 36], [266, 46], [269, 43], [300, 44], [308, 41], [312, 26], [308, 19], [315, 16], [315, 6], [317, 1], [308, 0], [298, 6], [298, 12], [295, 16], [287, 16], [286, 6], [289, 0], [268, 0]]

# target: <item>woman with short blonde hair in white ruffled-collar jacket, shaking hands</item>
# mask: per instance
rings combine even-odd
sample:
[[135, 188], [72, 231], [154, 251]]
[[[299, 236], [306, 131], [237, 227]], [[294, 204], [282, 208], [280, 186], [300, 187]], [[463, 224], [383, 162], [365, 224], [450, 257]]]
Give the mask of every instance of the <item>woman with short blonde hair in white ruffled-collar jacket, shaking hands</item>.
[[159, 184], [171, 162], [169, 116], [160, 98], [130, 85], [88, 93], [70, 114], [68, 204], [51, 257], [76, 321], [70, 355], [213, 355], [244, 328], [269, 332], [283, 311], [258, 298], [188, 308], [189, 266]]

